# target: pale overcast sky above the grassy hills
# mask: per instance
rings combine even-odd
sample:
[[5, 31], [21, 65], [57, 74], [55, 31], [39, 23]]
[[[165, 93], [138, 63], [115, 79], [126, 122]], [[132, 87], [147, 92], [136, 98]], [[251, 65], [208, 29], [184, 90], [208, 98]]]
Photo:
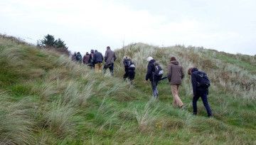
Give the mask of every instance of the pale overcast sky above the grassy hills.
[[34, 44], [50, 34], [82, 54], [142, 42], [255, 55], [255, 7], [255, 0], [0, 0], [0, 33]]

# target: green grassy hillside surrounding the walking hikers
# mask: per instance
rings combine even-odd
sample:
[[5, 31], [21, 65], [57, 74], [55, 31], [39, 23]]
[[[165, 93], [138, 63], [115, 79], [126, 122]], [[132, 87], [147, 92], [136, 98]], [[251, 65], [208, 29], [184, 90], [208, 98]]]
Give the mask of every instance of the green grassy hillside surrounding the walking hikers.
[[[1, 144], [256, 144], [255, 57], [137, 43], [117, 50], [111, 77], [16, 38], [0, 37], [0, 55]], [[122, 80], [123, 55], [137, 64], [134, 86]], [[149, 55], [163, 66], [174, 55], [184, 70], [206, 70], [215, 117], [205, 117], [201, 102], [198, 116], [191, 114], [187, 75], [185, 109], [171, 106], [166, 80], [151, 100], [143, 82]]]

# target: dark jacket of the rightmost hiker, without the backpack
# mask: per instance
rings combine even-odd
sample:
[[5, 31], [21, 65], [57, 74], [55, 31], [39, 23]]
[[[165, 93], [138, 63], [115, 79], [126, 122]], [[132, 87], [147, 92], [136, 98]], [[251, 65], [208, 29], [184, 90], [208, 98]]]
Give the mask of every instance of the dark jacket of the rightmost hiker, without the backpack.
[[198, 87], [198, 69], [197, 68], [193, 68], [191, 70], [191, 83], [192, 83], [192, 87], [193, 87], [193, 95], [201, 95], [204, 92], [208, 93], [208, 88], [203, 88], [203, 87]]

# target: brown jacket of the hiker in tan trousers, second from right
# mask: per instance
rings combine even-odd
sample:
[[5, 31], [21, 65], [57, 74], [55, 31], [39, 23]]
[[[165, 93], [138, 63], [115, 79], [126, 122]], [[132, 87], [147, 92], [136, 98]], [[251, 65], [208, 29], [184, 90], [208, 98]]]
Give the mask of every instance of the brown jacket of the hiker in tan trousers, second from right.
[[168, 65], [168, 80], [171, 85], [181, 85], [181, 80], [184, 77], [183, 68], [178, 65], [178, 61], [172, 60]]

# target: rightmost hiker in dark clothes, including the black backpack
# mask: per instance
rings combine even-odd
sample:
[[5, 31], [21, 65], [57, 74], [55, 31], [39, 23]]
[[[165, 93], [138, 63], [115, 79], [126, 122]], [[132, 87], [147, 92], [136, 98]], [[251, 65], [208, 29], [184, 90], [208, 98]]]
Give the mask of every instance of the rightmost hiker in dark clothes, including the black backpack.
[[206, 107], [208, 117], [213, 116], [207, 100], [210, 80], [208, 79], [206, 73], [199, 71], [197, 68], [189, 68], [188, 75], [191, 75], [191, 83], [193, 87], [193, 114], [197, 114], [196, 102], [198, 101], [199, 97], [201, 97], [203, 105]]

